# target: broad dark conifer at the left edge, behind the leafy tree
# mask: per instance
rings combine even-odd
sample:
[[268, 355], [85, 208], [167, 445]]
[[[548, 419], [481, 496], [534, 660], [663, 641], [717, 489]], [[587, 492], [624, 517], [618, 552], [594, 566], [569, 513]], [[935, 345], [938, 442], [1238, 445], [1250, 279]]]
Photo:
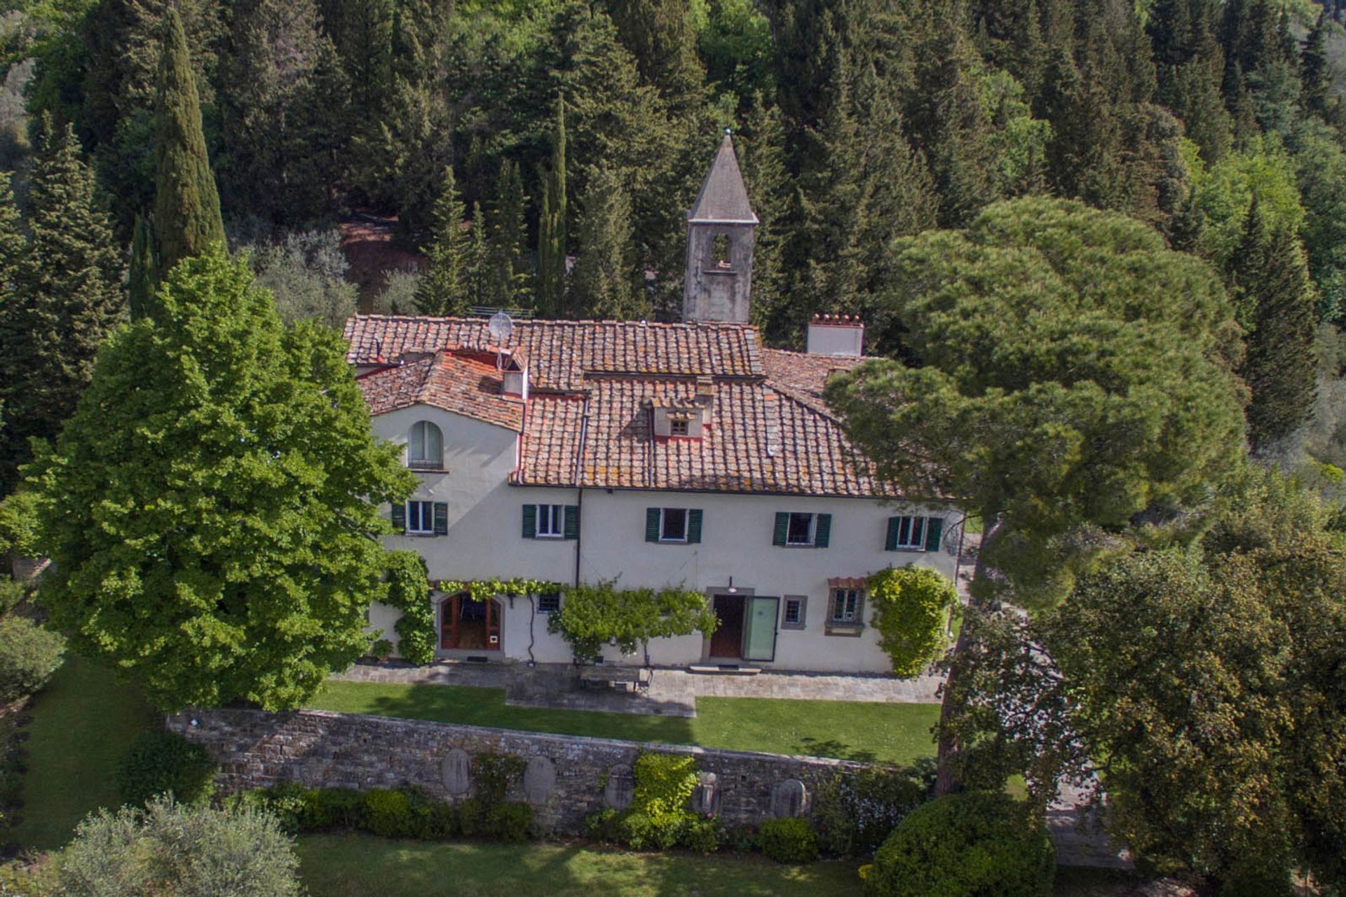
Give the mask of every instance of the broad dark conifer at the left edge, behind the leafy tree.
[[[50, 116], [39, 125], [28, 207], [32, 238], [12, 269], [16, 295], [4, 305], [4, 487], [30, 460], [30, 437], [51, 440], [61, 432], [124, 308], [120, 253], [94, 196], [93, 171], [71, 126], [54, 125]], [[12, 234], [0, 243], [9, 251], [17, 246]]]

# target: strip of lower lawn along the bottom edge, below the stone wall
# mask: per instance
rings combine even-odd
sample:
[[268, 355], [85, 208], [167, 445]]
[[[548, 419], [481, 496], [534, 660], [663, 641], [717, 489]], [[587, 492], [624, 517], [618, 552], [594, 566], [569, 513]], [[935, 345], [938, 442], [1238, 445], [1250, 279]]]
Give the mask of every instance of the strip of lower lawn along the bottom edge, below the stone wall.
[[859, 886], [852, 862], [781, 866], [759, 857], [633, 854], [575, 845], [421, 843], [371, 835], [299, 838], [314, 897], [840, 897]]

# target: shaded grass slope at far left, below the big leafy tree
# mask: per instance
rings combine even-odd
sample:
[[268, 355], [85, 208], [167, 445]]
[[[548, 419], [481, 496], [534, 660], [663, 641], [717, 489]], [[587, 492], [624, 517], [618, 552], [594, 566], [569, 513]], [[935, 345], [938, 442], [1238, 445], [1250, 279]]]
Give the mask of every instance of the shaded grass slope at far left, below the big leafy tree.
[[135, 689], [75, 656], [34, 698], [31, 713], [20, 822], [8, 838], [51, 850], [66, 843], [90, 811], [118, 806], [117, 761], [157, 714]]

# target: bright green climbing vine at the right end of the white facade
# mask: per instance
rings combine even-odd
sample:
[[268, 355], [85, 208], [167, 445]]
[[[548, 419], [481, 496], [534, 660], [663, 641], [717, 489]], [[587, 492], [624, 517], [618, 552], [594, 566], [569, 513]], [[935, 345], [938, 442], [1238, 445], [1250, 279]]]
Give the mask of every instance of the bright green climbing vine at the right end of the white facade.
[[892, 674], [919, 675], [945, 647], [949, 611], [958, 590], [948, 577], [927, 568], [880, 570], [870, 577], [870, 604], [879, 647], [892, 658]]

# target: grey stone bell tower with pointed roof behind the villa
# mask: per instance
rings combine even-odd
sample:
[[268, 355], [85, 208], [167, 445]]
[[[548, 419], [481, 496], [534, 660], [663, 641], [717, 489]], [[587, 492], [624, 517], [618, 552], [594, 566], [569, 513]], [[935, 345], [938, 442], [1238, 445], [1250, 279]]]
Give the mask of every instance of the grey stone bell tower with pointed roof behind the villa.
[[684, 321], [747, 323], [756, 226], [734, 139], [725, 129], [701, 192], [686, 214]]

